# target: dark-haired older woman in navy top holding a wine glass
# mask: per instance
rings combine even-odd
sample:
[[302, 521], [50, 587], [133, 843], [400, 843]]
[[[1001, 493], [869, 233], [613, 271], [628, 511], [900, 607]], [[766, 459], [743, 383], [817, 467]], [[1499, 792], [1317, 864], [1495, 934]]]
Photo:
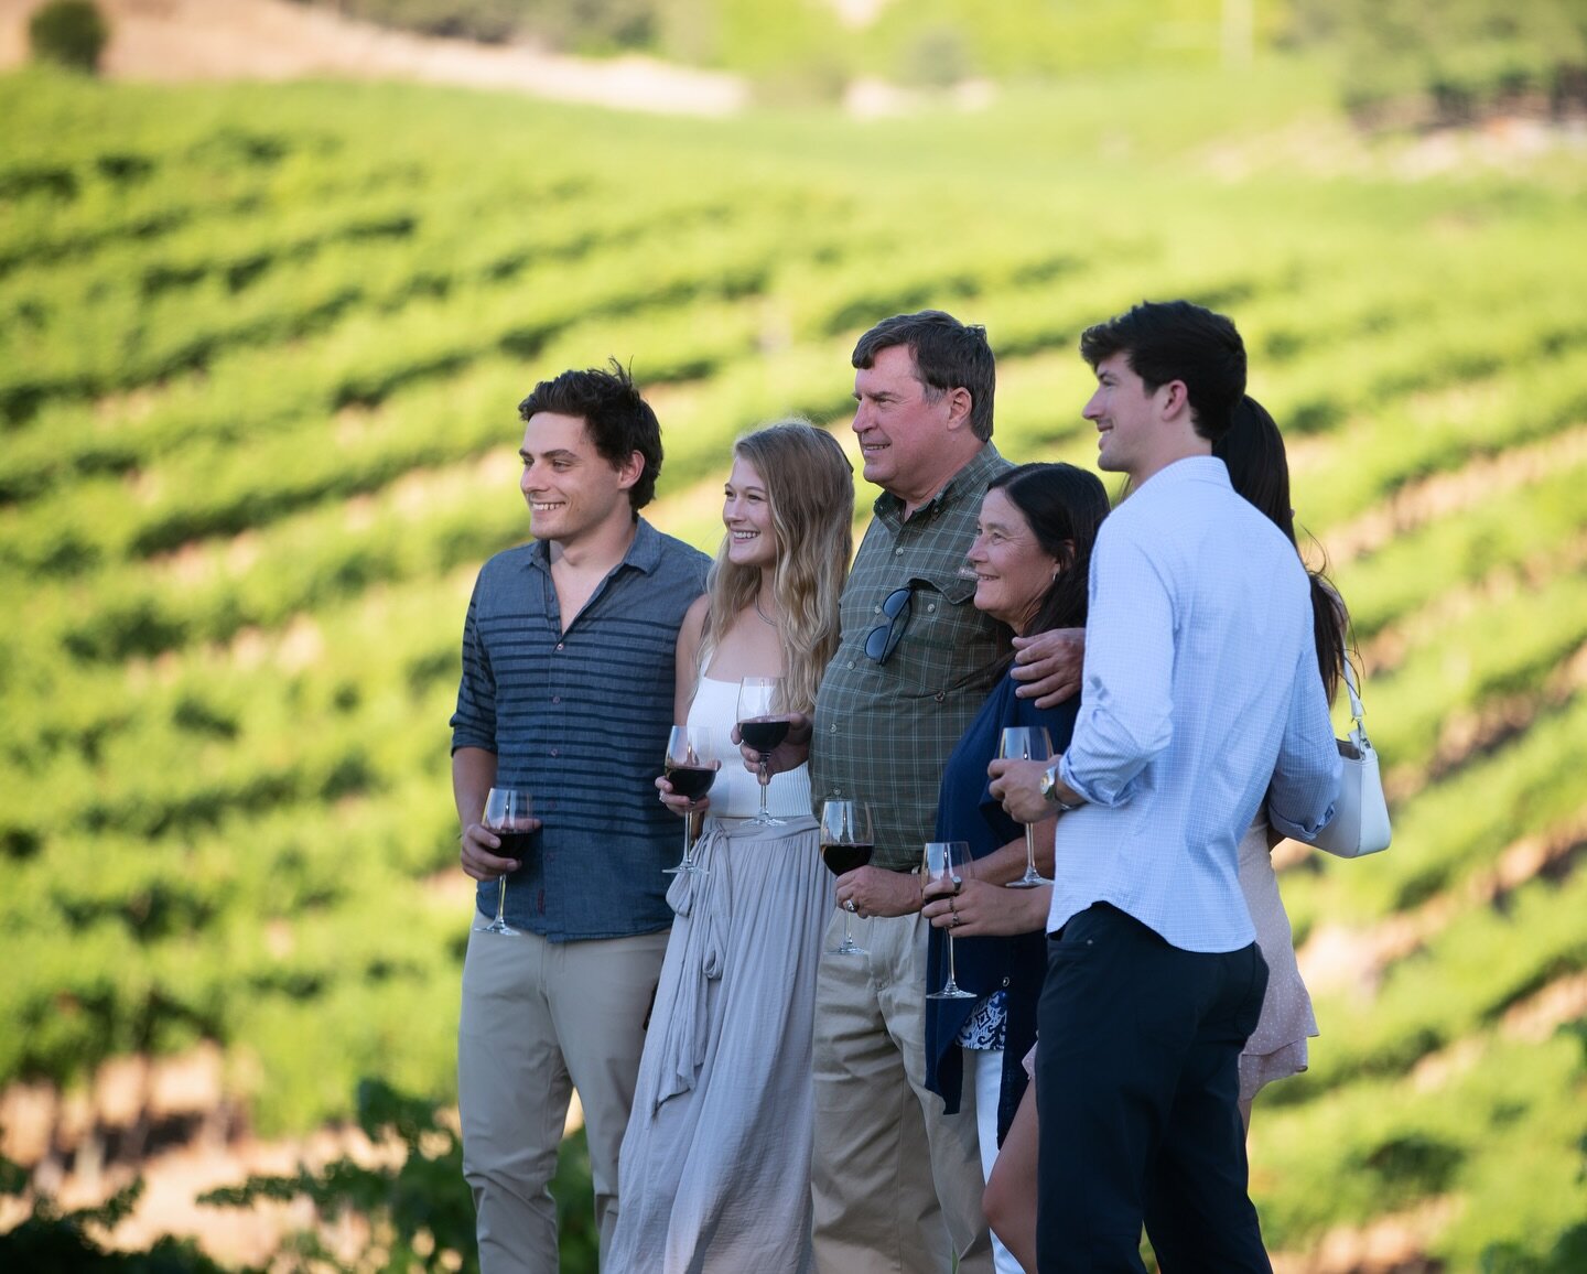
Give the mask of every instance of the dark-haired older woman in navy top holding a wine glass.
[[[976, 608], [1003, 620], [1017, 636], [1086, 625], [1086, 590], [1097, 528], [1108, 516], [1108, 493], [1090, 473], [1073, 465], [1020, 465], [992, 479], [981, 503], [976, 539], [968, 554], [976, 576]], [[1054, 749], [1074, 728], [1079, 700], [1036, 708], [1014, 695], [1005, 676], [963, 733], [947, 766], [936, 806], [936, 839], [966, 841], [974, 858], [960, 895], [989, 890], [1003, 898], [1046, 896], [1046, 890], [1006, 890], [1025, 869], [1025, 828], [987, 793], [987, 763], [998, 755], [1006, 727], [1039, 727]], [[1035, 828], [1052, 866], [1049, 819]], [[1038, 860], [1039, 861], [1039, 860]], [[955, 896], [955, 904], [957, 904]], [[966, 898], [966, 903], [970, 900]], [[925, 1019], [925, 1087], [940, 1093], [949, 1114], [971, 1085], [986, 1176], [1014, 1117], [1028, 1076], [1020, 1060], [1036, 1039], [1036, 998], [1046, 969], [1046, 912], [1027, 931], [1006, 938], [966, 938], [955, 946], [955, 977], [974, 1000], [932, 1000]], [[928, 988], [941, 985], [943, 939], [933, 931]], [[1017, 1274], [1014, 1258], [993, 1244], [1000, 1274]]]

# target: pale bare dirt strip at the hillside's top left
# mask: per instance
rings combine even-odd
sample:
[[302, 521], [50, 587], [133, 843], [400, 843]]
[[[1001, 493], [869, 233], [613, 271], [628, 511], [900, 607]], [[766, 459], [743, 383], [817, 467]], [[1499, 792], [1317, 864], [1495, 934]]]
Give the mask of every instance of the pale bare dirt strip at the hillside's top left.
[[[27, 59], [27, 19], [43, 0], [0, 0], [0, 68]], [[111, 43], [103, 73], [122, 79], [421, 79], [505, 89], [630, 111], [720, 116], [749, 90], [722, 71], [649, 57], [590, 60], [525, 46], [433, 40], [354, 22], [290, 0], [98, 0]]]

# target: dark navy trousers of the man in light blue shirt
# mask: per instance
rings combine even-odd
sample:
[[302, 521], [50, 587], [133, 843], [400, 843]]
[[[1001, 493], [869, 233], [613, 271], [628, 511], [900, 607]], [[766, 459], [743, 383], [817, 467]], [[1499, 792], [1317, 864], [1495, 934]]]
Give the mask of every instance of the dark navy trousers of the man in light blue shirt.
[[1108, 903], [1047, 944], [1036, 1046], [1041, 1274], [1271, 1274], [1246, 1193], [1239, 1050], [1257, 944], [1189, 952]]

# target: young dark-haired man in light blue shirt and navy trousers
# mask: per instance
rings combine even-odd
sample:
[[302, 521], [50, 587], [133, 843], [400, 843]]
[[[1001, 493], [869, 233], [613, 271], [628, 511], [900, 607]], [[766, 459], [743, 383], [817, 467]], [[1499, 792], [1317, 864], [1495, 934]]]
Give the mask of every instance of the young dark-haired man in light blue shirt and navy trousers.
[[1143, 303], [1089, 328], [1086, 417], [1132, 495], [1090, 566], [1082, 703], [1059, 762], [993, 763], [1057, 861], [1036, 1052], [1038, 1268], [1270, 1271], [1246, 1188], [1238, 1055], [1266, 965], [1238, 881], [1257, 808], [1331, 817], [1338, 750], [1295, 547], [1212, 443], [1246, 386], [1220, 314]]

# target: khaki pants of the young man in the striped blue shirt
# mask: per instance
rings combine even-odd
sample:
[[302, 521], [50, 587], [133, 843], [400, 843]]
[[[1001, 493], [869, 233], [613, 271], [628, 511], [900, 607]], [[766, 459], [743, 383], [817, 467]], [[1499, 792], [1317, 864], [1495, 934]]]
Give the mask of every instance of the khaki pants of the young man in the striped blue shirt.
[[605, 1252], [667, 933], [548, 942], [475, 931], [463, 961], [457, 1099], [482, 1274], [557, 1274], [549, 1182], [574, 1088]]

